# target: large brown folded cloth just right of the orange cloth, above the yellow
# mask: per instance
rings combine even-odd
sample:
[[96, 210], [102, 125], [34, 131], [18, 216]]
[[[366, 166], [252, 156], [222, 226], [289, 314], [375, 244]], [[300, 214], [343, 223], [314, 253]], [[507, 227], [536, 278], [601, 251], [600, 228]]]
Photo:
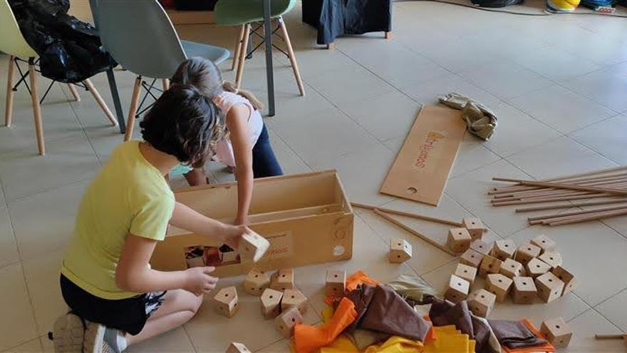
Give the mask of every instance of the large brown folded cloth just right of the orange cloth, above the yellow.
[[423, 341], [430, 325], [392, 287], [378, 285], [359, 327]]

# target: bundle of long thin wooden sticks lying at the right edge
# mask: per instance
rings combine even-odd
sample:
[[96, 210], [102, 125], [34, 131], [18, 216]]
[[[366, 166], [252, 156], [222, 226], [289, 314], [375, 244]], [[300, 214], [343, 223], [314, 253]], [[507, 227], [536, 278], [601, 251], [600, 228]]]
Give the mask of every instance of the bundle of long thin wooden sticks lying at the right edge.
[[[495, 207], [551, 203], [517, 208], [517, 213], [582, 208], [574, 212], [530, 217], [529, 224], [532, 225], [568, 225], [627, 215], [627, 165], [546, 180], [512, 178], [492, 178], [492, 180], [515, 183], [512, 186], [492, 188], [488, 191], [488, 194], [492, 195], [491, 202]], [[602, 205], [605, 207], [586, 208]]]

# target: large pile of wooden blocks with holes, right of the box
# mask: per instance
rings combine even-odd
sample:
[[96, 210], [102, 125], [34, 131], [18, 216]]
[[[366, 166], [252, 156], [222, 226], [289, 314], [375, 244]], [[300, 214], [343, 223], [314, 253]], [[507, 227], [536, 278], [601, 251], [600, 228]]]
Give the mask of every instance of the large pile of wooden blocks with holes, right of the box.
[[[470, 292], [477, 275], [486, 278], [485, 288]], [[548, 303], [575, 285], [574, 275], [562, 267], [556, 243], [545, 235], [520, 246], [509, 239], [492, 244], [477, 239], [460, 257], [445, 297], [455, 303], [467, 300], [474, 314], [487, 317], [494, 303], [503, 302], [510, 293], [516, 304], [533, 304], [536, 297]]]

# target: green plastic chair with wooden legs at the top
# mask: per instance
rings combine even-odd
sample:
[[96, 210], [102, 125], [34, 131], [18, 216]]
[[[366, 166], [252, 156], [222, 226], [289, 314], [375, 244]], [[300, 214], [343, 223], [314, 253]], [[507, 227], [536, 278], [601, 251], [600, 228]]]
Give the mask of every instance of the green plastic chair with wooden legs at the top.
[[[214, 8], [214, 20], [216, 24], [221, 26], [240, 26], [239, 36], [235, 42], [235, 50], [233, 55], [232, 70], [237, 68], [235, 75], [235, 83], [237, 88], [242, 84], [242, 76], [244, 75], [244, 60], [249, 54], [251, 54], [259, 46], [255, 47], [251, 52], [247, 51], [250, 34], [255, 34], [263, 26], [261, 24], [253, 28], [252, 24], [259, 24], [264, 21], [263, 0], [219, 0]], [[301, 96], [305, 95], [305, 87], [303, 80], [301, 79], [301, 73], [299, 72], [299, 65], [296, 62], [296, 56], [294, 56], [294, 49], [291, 46], [289, 34], [283, 20], [283, 15], [287, 14], [291, 9], [296, 6], [296, 0], [271, 0], [270, 1], [270, 16], [271, 19], [278, 22], [278, 28], [276, 31], [281, 30], [282, 39], [285, 41], [286, 51], [282, 51], [291, 63], [291, 67], [294, 70], [294, 78], [299, 86]], [[276, 31], [273, 31], [275, 34]]]

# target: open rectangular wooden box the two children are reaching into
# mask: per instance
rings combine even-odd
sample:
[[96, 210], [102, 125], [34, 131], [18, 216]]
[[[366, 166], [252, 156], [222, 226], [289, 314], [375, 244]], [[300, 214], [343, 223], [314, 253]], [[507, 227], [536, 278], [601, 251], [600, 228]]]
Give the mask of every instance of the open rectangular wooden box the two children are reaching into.
[[[237, 214], [237, 184], [184, 188], [175, 198], [208, 217], [232, 222]], [[250, 227], [270, 248], [257, 263], [241, 263], [235, 252], [207, 237], [171, 227], [155, 248], [157, 270], [215, 266], [215, 275], [231, 277], [251, 270], [274, 270], [353, 256], [353, 210], [335, 170], [254, 180]]]

